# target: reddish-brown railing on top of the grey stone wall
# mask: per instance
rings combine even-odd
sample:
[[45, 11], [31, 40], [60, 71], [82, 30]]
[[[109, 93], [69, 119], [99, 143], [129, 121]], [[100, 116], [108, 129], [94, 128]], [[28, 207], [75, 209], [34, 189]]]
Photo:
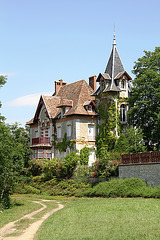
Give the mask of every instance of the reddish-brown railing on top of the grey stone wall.
[[130, 153], [121, 155], [122, 164], [160, 163], [160, 152]]

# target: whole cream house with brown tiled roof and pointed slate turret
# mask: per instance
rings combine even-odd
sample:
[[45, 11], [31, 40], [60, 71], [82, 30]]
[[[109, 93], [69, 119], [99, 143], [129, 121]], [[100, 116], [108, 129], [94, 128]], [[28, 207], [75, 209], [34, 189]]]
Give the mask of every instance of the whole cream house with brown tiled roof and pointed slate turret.
[[120, 110], [121, 122], [126, 124], [125, 99], [130, 93], [130, 80], [119, 57], [114, 34], [104, 73], [89, 77], [89, 84], [85, 80], [67, 84], [60, 79], [55, 81], [52, 96], [40, 97], [35, 116], [27, 123], [30, 126], [32, 157], [61, 158], [72, 149], [80, 151], [87, 146], [90, 148], [91, 165], [96, 157], [97, 124], [101, 123], [96, 107], [101, 103], [105, 106], [106, 99], [113, 99]]

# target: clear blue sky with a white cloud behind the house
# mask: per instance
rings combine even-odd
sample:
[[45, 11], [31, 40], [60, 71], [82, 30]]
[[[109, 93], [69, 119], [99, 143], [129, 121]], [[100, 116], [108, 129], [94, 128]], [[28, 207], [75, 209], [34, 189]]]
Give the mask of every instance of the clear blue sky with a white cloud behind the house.
[[0, 0], [1, 115], [22, 126], [40, 95], [103, 73], [115, 25], [117, 49], [134, 79], [134, 62], [160, 46], [159, 0]]

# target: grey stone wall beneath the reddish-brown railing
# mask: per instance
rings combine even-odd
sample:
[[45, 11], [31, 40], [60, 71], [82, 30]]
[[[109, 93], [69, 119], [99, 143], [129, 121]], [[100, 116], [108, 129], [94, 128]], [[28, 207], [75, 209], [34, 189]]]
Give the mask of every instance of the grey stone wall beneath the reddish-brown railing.
[[119, 178], [138, 177], [149, 186], [160, 186], [160, 163], [119, 165]]

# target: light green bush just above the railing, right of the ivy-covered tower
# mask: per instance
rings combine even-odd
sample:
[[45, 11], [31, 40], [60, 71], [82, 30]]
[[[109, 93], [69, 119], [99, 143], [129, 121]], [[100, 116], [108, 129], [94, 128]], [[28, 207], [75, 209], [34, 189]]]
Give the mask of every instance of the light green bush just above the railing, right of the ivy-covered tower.
[[131, 127], [125, 133], [121, 133], [115, 144], [114, 151], [119, 153], [145, 152], [146, 147], [142, 130]]

